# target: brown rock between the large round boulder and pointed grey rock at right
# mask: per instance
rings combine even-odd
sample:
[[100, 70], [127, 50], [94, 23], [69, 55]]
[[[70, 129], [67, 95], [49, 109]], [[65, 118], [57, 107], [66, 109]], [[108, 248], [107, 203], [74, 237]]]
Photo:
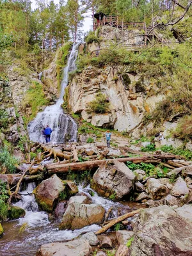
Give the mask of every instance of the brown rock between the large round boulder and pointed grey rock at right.
[[169, 193], [169, 189], [159, 180], [150, 178], [147, 180], [148, 194], [153, 200], [159, 200]]

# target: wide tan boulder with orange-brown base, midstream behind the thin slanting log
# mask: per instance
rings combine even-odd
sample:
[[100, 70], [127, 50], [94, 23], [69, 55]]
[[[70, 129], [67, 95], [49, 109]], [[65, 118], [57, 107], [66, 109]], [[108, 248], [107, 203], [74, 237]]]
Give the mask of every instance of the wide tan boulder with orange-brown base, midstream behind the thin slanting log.
[[[62, 222], [60, 223], [60, 229], [79, 229], [92, 224], [100, 224], [104, 219], [105, 210], [99, 204], [83, 204], [86, 202], [86, 196], [79, 196], [81, 200], [77, 202], [70, 198], [67, 210], [63, 215]], [[82, 201], [82, 199], [84, 200]]]

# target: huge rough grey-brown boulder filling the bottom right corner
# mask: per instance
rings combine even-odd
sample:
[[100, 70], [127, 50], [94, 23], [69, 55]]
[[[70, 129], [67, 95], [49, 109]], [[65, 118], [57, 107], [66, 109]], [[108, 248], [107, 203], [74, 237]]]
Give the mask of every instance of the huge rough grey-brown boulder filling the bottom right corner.
[[167, 205], [140, 212], [130, 256], [192, 255], [192, 223]]

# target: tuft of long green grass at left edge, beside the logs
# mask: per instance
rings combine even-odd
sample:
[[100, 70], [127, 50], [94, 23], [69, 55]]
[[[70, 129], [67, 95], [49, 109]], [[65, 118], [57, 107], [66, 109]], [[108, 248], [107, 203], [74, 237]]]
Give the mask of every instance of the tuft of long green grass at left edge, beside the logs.
[[2, 171], [2, 167], [5, 167], [8, 173], [15, 173], [15, 164], [17, 164], [17, 159], [11, 156], [8, 148], [0, 148], [0, 170]]

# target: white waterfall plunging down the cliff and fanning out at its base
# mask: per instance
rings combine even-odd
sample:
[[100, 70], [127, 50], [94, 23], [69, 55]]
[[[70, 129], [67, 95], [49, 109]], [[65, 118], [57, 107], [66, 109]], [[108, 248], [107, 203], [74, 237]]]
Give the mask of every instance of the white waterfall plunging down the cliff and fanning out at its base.
[[77, 124], [69, 115], [63, 113], [61, 104], [63, 104], [63, 96], [68, 84], [68, 72], [76, 70], [78, 45], [79, 44], [73, 45], [67, 66], [63, 69], [60, 98], [57, 100], [56, 104], [47, 106], [44, 111], [38, 113], [36, 118], [28, 125], [29, 138], [31, 141], [45, 142], [42, 136], [42, 130], [46, 125], [49, 125], [52, 129], [52, 143], [64, 143], [66, 136], [70, 141], [77, 140]]

